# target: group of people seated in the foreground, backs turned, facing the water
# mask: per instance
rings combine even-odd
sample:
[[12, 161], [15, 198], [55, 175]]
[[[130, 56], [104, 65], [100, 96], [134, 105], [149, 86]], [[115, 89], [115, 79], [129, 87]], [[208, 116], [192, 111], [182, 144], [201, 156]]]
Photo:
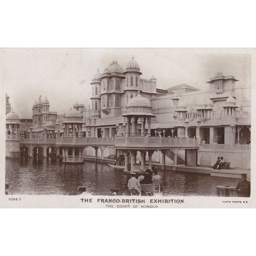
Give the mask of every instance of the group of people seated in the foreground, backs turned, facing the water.
[[154, 167], [152, 169], [153, 172], [151, 169], [146, 169], [143, 173], [130, 173], [132, 177], [127, 183], [128, 189], [136, 189], [138, 192], [138, 196], [140, 196], [140, 184], [153, 184], [153, 180], [160, 181], [160, 175], [158, 174], [157, 169], [155, 169]]

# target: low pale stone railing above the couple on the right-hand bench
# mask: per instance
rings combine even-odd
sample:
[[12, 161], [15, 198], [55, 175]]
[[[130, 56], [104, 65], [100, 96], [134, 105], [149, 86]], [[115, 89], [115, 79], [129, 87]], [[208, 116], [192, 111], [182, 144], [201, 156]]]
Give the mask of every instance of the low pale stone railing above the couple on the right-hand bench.
[[206, 151], [250, 151], [251, 146], [246, 144], [199, 144], [199, 150]]

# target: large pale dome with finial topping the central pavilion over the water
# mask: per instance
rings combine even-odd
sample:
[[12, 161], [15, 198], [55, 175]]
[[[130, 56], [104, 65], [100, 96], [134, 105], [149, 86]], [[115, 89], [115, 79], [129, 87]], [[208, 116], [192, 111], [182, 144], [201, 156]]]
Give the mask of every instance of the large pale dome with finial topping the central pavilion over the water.
[[152, 106], [150, 101], [142, 97], [140, 91], [136, 97], [130, 99], [126, 105], [126, 113], [122, 116], [155, 116], [151, 113]]

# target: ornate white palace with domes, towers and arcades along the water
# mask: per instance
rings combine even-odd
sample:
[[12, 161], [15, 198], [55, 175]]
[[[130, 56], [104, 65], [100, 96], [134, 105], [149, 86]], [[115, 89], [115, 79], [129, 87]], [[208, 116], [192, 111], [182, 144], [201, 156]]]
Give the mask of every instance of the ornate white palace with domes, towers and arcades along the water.
[[6, 156], [18, 156], [13, 139], [22, 155], [61, 155], [64, 163], [124, 154], [125, 167], [135, 170], [154, 163], [211, 166], [223, 156], [230, 167], [250, 169], [251, 102], [244, 97], [250, 86], [219, 72], [207, 90], [187, 84], [162, 90], [154, 76], [141, 75], [134, 58], [125, 69], [113, 61], [93, 76], [91, 107], [76, 103], [58, 115], [39, 98], [29, 131], [19, 131], [18, 115], [9, 112]]

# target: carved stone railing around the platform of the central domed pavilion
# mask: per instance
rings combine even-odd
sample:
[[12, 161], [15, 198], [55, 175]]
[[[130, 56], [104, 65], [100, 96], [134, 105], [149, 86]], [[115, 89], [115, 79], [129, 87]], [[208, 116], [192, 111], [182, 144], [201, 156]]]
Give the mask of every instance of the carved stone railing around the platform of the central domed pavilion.
[[198, 140], [194, 138], [171, 138], [154, 136], [117, 136], [116, 147], [139, 148], [170, 148], [170, 147], [197, 147]]

